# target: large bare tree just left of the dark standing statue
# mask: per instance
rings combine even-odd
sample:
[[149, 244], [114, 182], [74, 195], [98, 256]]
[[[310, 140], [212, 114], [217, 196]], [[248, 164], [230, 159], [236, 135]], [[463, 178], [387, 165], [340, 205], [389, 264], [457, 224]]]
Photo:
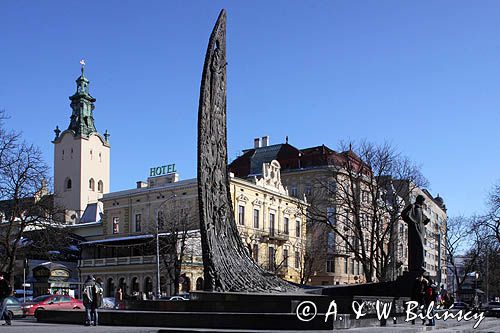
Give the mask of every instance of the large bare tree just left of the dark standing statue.
[[332, 172], [316, 180], [308, 216], [335, 232], [336, 253], [361, 263], [366, 281], [388, 279], [394, 236], [415, 187], [426, 185], [418, 166], [390, 144], [342, 145]]

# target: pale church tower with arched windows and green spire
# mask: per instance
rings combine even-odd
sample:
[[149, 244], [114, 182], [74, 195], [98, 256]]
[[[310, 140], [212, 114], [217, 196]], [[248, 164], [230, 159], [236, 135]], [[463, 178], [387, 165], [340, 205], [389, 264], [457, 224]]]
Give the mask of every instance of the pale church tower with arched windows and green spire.
[[106, 130], [101, 135], [95, 128], [96, 100], [89, 93], [85, 62], [80, 63], [82, 74], [76, 79], [75, 94], [69, 97], [72, 113], [68, 129], [61, 133], [57, 126], [52, 141], [54, 202], [65, 210], [65, 220], [71, 224], [98, 221], [102, 211], [98, 199], [109, 192], [109, 134]]

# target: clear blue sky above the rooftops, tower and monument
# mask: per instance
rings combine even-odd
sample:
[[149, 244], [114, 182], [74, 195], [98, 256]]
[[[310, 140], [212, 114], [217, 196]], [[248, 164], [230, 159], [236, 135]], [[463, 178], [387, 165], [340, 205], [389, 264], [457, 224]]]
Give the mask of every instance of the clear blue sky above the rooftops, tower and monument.
[[52, 164], [80, 59], [111, 133], [111, 190], [151, 166], [196, 175], [199, 84], [228, 12], [230, 159], [254, 137], [389, 141], [449, 215], [500, 179], [498, 1], [3, 1], [0, 108]]

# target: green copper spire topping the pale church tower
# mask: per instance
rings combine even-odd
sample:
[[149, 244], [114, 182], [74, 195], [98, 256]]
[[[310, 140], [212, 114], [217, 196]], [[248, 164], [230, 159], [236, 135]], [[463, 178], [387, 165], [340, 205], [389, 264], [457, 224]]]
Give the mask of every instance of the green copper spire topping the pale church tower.
[[97, 132], [94, 125], [94, 102], [96, 99], [89, 94], [89, 80], [85, 77], [85, 61], [81, 60], [82, 75], [76, 79], [76, 93], [70, 96], [71, 121], [68, 129], [75, 132], [76, 136], [89, 136]]

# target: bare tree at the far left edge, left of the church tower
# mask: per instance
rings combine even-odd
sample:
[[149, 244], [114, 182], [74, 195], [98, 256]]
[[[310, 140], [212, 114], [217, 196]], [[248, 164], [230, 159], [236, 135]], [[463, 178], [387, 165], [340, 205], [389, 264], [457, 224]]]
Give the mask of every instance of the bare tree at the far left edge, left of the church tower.
[[[6, 130], [4, 120], [0, 112], [0, 269], [12, 282], [15, 260], [26, 245], [53, 246], [40, 240], [54, 231], [55, 209], [47, 189], [49, 168], [40, 149]], [[38, 241], [29, 240], [28, 232], [36, 233]]]

